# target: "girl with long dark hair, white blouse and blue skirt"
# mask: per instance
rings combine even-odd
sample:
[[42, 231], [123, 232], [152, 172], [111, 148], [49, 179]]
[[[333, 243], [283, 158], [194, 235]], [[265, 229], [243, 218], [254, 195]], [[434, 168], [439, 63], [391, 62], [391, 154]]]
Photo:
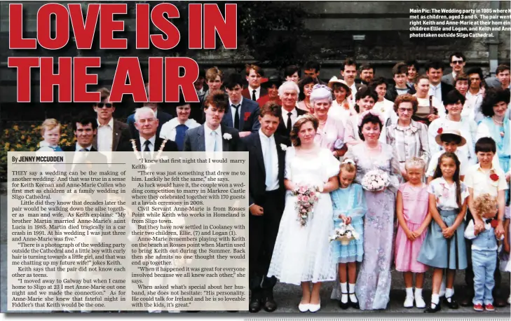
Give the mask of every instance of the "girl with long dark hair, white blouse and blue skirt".
[[444, 303], [458, 308], [454, 299], [454, 276], [456, 270], [467, 268], [463, 219], [467, 212], [468, 189], [460, 182], [460, 161], [454, 153], [443, 153], [428, 186], [429, 207], [432, 222], [418, 254], [417, 261], [432, 266], [431, 305], [424, 312], [440, 310], [440, 285], [444, 268], [447, 268]]

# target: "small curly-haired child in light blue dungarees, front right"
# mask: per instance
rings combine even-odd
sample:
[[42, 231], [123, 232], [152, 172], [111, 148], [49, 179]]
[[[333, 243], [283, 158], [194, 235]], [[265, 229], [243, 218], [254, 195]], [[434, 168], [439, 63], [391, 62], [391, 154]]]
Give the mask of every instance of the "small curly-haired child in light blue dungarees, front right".
[[471, 219], [465, 230], [465, 238], [472, 240], [472, 268], [474, 270], [474, 310], [493, 311], [491, 291], [495, 286], [493, 273], [497, 266], [497, 239], [493, 229], [497, 224], [497, 198], [488, 193], [477, 196], [474, 200], [475, 216], [484, 222], [482, 230], [475, 229], [475, 220]]

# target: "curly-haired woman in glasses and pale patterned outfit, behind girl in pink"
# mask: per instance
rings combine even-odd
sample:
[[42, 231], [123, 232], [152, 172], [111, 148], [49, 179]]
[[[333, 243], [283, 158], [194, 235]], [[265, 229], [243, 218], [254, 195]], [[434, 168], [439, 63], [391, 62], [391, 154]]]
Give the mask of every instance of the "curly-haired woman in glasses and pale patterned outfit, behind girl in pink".
[[417, 98], [404, 94], [397, 96], [394, 111], [397, 113], [397, 123], [387, 128], [387, 144], [394, 146], [397, 159], [400, 162], [401, 175], [408, 180], [404, 163], [412, 157], [420, 157], [427, 164], [430, 158], [428, 145], [428, 128], [423, 123], [411, 120], [417, 111]]

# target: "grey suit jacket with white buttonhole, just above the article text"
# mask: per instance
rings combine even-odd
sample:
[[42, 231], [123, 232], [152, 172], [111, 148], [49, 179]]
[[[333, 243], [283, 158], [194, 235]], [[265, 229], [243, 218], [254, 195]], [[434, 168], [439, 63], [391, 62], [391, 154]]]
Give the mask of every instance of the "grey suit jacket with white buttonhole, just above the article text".
[[[183, 151], [206, 151], [204, 125], [186, 130], [184, 136]], [[222, 130], [222, 151], [243, 151], [238, 130], [225, 125], [220, 125]], [[231, 139], [225, 139], [224, 134], [231, 135]]]

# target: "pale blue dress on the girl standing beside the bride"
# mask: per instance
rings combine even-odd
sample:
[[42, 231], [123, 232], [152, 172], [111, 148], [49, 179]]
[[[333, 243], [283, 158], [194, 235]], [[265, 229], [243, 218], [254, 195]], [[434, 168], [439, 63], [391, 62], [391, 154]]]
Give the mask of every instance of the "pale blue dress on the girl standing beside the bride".
[[[334, 205], [334, 228], [339, 227], [340, 214], [351, 217], [351, 226], [360, 235], [358, 240], [352, 240], [348, 245], [334, 240], [334, 256], [339, 263], [362, 262], [364, 255], [364, 217], [367, 212], [364, 191], [360, 184], [351, 184], [346, 189], [338, 189], [330, 193]], [[332, 233], [333, 234], [333, 233]]]

